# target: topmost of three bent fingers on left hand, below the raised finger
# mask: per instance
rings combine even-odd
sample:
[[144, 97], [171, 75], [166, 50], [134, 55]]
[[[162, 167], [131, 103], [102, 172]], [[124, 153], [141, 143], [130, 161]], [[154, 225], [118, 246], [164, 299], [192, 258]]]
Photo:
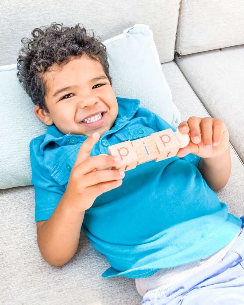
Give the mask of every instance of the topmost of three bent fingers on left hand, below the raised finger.
[[116, 167], [121, 162], [121, 160], [117, 162], [116, 157], [118, 156], [112, 156], [112, 155], [91, 156], [90, 158], [83, 160], [82, 163], [77, 164], [77, 171], [79, 172], [79, 175], [85, 175], [90, 172], [102, 171], [102, 170], [96, 170], [96, 168], [99, 167], [110, 167], [110, 166]]

